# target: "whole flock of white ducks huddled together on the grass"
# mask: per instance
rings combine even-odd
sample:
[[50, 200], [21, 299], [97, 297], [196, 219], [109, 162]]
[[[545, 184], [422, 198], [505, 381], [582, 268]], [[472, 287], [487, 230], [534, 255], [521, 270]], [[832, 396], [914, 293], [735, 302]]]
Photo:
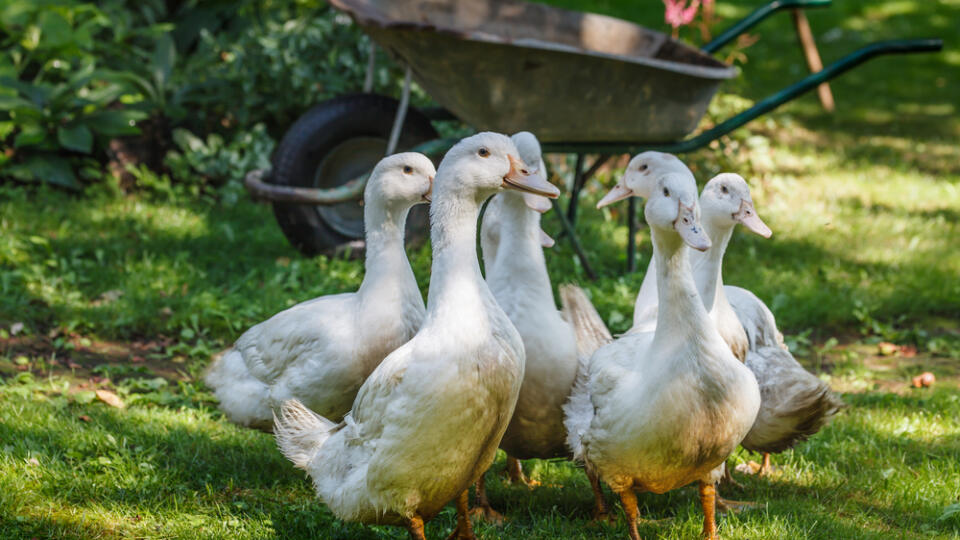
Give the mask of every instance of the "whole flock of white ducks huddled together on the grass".
[[[423, 539], [424, 522], [455, 501], [451, 537], [473, 538], [468, 489], [476, 484], [477, 506], [497, 516], [483, 475], [502, 448], [511, 479], [528, 485], [518, 460], [582, 462], [594, 518], [610, 517], [603, 481], [635, 540], [637, 492], [696, 482], [704, 536], [717, 538], [715, 509], [733, 502], [716, 486], [737, 445], [763, 452], [769, 467], [769, 453], [816, 433], [842, 406], [790, 355], [763, 302], [723, 284], [734, 227], [770, 229], [740, 176], [721, 174], [698, 197], [675, 156], [634, 157], [597, 205], [642, 197], [653, 240], [634, 325], [615, 339], [576, 286], [560, 287], [557, 310], [540, 214], [559, 191], [544, 171], [527, 132], [467, 137], [436, 170], [417, 153], [384, 158], [364, 193], [359, 290], [252, 327], [207, 383], [231, 421], [272, 430], [344, 520]], [[491, 196], [484, 278], [476, 223]], [[403, 235], [409, 210], [426, 202], [424, 305]]]

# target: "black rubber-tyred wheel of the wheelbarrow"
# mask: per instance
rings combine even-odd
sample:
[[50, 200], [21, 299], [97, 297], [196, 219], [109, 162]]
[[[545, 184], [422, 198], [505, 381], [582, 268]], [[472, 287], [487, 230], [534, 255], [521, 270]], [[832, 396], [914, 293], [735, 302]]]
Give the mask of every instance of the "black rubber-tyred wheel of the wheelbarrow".
[[[387, 149], [399, 103], [375, 94], [330, 99], [304, 113], [287, 130], [273, 156], [276, 184], [333, 188], [373, 169]], [[398, 151], [435, 139], [430, 121], [412, 107], [407, 110]], [[273, 203], [284, 236], [304, 255], [331, 253], [363, 238], [360, 201], [330, 206]], [[407, 237], [422, 236], [429, 222], [425, 205], [407, 219]]]

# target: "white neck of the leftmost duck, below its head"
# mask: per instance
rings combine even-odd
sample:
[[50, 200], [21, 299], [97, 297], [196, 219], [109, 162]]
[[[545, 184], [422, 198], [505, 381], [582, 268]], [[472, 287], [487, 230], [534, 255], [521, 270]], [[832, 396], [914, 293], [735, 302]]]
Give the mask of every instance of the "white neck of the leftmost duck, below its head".
[[365, 229], [366, 274], [359, 294], [381, 294], [383, 287], [391, 291], [416, 289], [416, 279], [407, 259], [403, 236], [410, 207], [369, 203], [363, 213]]

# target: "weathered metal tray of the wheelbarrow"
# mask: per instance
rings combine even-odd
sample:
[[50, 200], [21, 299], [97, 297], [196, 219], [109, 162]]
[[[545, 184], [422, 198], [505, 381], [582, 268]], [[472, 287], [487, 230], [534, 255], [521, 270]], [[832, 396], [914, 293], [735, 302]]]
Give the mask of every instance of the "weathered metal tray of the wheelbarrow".
[[620, 19], [517, 0], [331, 0], [480, 130], [677, 140], [737, 70]]

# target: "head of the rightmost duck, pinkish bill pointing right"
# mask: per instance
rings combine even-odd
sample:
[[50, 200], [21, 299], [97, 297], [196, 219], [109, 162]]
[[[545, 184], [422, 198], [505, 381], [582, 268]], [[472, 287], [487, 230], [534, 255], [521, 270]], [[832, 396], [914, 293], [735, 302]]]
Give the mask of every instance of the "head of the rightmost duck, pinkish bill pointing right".
[[737, 223], [764, 238], [773, 234], [760, 219], [750, 198], [750, 186], [739, 174], [723, 173], [713, 177], [700, 194], [703, 220], [717, 229], [729, 229]]

